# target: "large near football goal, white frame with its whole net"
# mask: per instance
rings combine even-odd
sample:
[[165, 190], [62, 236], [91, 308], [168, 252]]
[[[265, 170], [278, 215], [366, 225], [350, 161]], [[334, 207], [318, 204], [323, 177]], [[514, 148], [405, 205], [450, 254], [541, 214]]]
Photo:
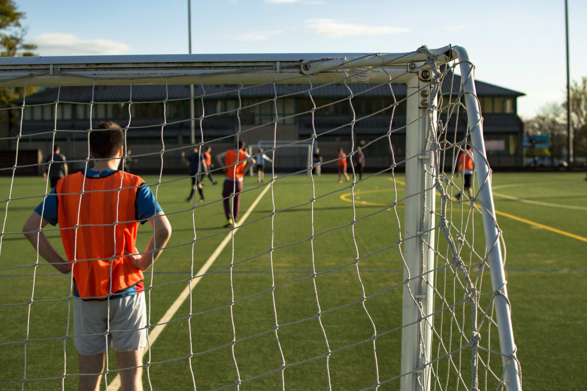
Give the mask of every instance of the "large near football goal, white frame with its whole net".
[[[0, 87], [45, 88], [0, 109], [15, 124], [1, 139], [0, 385], [73, 389], [87, 373], [78, 341], [98, 337], [103, 351], [146, 331], [148, 389], [521, 389], [473, 70], [458, 46], [3, 57]], [[90, 152], [103, 121], [122, 129], [122, 175], [88, 188], [115, 175]], [[259, 148], [271, 158], [263, 183], [244, 175]], [[60, 179], [63, 158], [79, 191]], [[128, 195], [143, 182], [173, 227], [129, 284], [146, 322], [80, 331], [90, 269], [106, 267], [95, 302], [114, 317], [114, 265], [136, 276], [129, 254], [162, 246], [150, 242], [154, 203], [139, 215], [144, 201]], [[112, 221], [79, 223], [96, 211]], [[146, 221], [136, 250], [93, 255]], [[68, 259], [66, 242], [90, 250]], [[59, 273], [48, 246], [90, 271]], [[114, 349], [95, 370], [101, 389], [120, 387]]]

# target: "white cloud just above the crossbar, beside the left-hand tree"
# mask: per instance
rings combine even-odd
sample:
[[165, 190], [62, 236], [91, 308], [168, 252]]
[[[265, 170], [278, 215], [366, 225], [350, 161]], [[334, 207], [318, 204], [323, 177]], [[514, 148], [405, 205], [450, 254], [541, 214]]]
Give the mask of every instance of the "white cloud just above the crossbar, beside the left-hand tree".
[[43, 33], [31, 39], [41, 56], [122, 55], [129, 45], [107, 39], [82, 39], [73, 34]]

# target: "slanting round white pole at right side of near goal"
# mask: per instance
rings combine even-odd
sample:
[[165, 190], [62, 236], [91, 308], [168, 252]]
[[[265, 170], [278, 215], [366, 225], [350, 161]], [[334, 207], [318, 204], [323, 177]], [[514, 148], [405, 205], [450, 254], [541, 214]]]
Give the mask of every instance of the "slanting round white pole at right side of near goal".
[[478, 198], [483, 211], [483, 226], [485, 232], [485, 244], [488, 249], [488, 263], [491, 270], [491, 286], [499, 294], [495, 297], [495, 314], [497, 315], [498, 332], [500, 335], [500, 348], [505, 372], [505, 385], [509, 391], [521, 390], [519, 368], [514, 343], [514, 331], [511, 323], [510, 302], [508, 301], [507, 288], [505, 286], [504, 264], [499, 242], [499, 232], [495, 225], [495, 206], [491, 190], [491, 176], [485, 143], [483, 141], [483, 123], [475, 91], [473, 79], [473, 67], [469, 62], [467, 50], [463, 47], [455, 49], [460, 62], [461, 80], [465, 93], [465, 106], [467, 107], [468, 123], [471, 129], [471, 144], [473, 144], [473, 157], [475, 159], [475, 171], [477, 183], [480, 186]]

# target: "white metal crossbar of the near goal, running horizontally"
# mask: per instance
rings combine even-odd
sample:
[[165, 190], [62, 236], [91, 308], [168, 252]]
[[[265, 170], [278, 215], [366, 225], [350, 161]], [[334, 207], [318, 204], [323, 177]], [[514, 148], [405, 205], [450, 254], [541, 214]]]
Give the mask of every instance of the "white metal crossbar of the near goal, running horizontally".
[[[450, 46], [432, 52], [439, 61], [452, 56]], [[351, 67], [378, 67], [372, 83], [389, 80], [389, 74], [394, 83], [405, 83], [406, 63], [424, 60], [426, 55], [417, 52], [2, 57], [0, 87], [22, 86], [25, 79], [28, 86], [120, 85], [130, 79], [133, 85], [308, 83], [306, 74], [312, 74], [313, 83], [342, 83], [343, 69]], [[242, 72], [245, 67], [247, 72]], [[346, 78], [347, 83], [354, 81], [359, 80]]]

